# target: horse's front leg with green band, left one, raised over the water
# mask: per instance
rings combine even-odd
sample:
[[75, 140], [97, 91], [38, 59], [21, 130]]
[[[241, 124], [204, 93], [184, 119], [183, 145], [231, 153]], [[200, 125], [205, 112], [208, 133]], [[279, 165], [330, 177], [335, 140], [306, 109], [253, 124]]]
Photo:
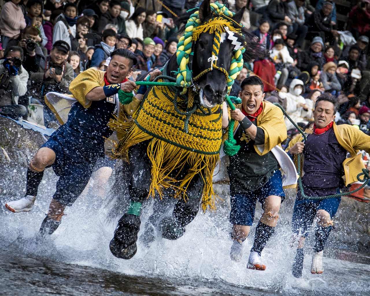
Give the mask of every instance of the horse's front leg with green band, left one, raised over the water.
[[141, 204], [148, 197], [151, 183], [150, 161], [146, 151], [147, 142], [139, 143], [131, 147], [129, 151], [131, 166], [129, 193], [131, 205], [127, 213], [118, 221], [114, 237], [109, 245], [112, 254], [122, 259], [131, 259], [137, 251], [136, 241], [141, 223]]

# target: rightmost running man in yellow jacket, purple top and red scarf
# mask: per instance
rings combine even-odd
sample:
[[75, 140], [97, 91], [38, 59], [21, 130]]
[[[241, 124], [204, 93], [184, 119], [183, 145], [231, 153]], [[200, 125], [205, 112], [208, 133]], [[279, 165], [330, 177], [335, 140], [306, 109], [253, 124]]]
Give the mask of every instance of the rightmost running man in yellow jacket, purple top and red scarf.
[[[315, 122], [313, 132], [307, 135], [306, 143], [302, 142], [302, 136], [297, 136], [287, 148], [288, 153], [294, 156], [295, 163], [297, 163], [297, 154], [304, 154], [305, 174], [302, 177], [302, 185], [306, 196], [333, 195], [339, 193], [339, 188], [344, 184], [356, 182], [357, 175], [364, 168], [359, 152], [360, 150], [370, 152], [370, 136], [348, 124], [337, 126], [334, 123], [338, 107], [339, 103], [334, 96], [326, 93], [320, 95], [313, 113]], [[348, 158], [347, 153], [350, 154]], [[343, 176], [345, 176], [345, 182]], [[332, 219], [339, 204], [340, 197], [322, 200], [304, 199], [298, 190], [292, 217], [294, 240], [298, 240], [297, 255], [292, 269], [295, 277], [302, 276], [303, 243], [315, 218], [317, 218], [317, 227], [311, 273], [323, 273], [323, 249], [332, 230]]]

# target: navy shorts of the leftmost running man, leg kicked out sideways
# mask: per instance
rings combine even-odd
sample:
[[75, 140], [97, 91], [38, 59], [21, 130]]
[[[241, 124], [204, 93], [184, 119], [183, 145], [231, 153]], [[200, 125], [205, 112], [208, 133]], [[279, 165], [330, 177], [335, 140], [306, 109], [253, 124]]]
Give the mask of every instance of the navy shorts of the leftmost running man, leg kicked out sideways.
[[59, 180], [53, 199], [66, 206], [71, 206], [89, 182], [95, 163], [84, 161], [82, 158], [77, 161], [65, 155], [65, 149], [53, 138], [48, 139], [40, 148], [42, 147], [50, 148], [55, 153], [52, 167], [55, 174], [59, 176]]

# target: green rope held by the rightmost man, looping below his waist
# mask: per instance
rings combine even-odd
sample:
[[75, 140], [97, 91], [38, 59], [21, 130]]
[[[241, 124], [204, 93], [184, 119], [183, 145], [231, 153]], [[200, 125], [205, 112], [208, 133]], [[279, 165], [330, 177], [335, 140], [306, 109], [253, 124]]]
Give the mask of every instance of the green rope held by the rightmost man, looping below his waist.
[[[289, 117], [288, 113], [286, 113], [286, 111], [284, 110], [284, 108], [282, 106], [280, 106], [279, 103], [274, 103], [275, 106], [279, 107], [282, 112], [284, 113], [284, 115], [286, 116], [287, 119], [289, 119], [289, 121], [295, 126], [295, 128], [302, 134], [303, 136], [303, 141], [302, 142], [306, 142], [307, 141], [307, 137], [306, 137], [306, 134], [299, 128], [299, 126]], [[301, 153], [298, 153], [298, 172], [300, 172], [300, 163], [301, 163]], [[364, 178], [361, 180], [360, 179], [360, 176], [364, 175]], [[366, 179], [366, 180], [365, 180]], [[355, 190], [352, 190], [350, 192], [342, 192], [342, 193], [337, 193], [337, 194], [332, 194], [332, 195], [328, 195], [328, 196], [307, 196], [304, 192], [303, 192], [303, 185], [302, 185], [302, 176], [299, 176], [298, 178], [298, 185], [299, 185], [299, 190], [300, 190], [300, 193], [302, 195], [302, 198], [303, 199], [314, 199], [314, 200], [323, 200], [323, 199], [327, 199], [327, 198], [333, 198], [333, 197], [340, 197], [340, 196], [347, 196], [347, 195], [350, 195], [352, 193], [355, 193], [359, 190], [361, 190], [363, 187], [365, 187], [369, 182], [370, 182], [370, 176], [369, 176], [369, 170], [367, 169], [362, 169], [362, 173], [359, 173], [357, 175], [357, 180], [359, 180], [359, 182], [364, 182], [359, 188], [355, 189]]]

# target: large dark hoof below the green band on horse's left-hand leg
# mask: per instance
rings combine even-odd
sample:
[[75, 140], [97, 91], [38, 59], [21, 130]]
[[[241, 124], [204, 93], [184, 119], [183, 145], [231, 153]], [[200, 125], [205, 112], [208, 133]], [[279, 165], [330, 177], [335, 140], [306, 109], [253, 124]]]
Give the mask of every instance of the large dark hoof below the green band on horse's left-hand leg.
[[140, 217], [136, 215], [126, 213], [121, 217], [109, 244], [109, 249], [114, 256], [131, 259], [135, 255], [140, 223]]

